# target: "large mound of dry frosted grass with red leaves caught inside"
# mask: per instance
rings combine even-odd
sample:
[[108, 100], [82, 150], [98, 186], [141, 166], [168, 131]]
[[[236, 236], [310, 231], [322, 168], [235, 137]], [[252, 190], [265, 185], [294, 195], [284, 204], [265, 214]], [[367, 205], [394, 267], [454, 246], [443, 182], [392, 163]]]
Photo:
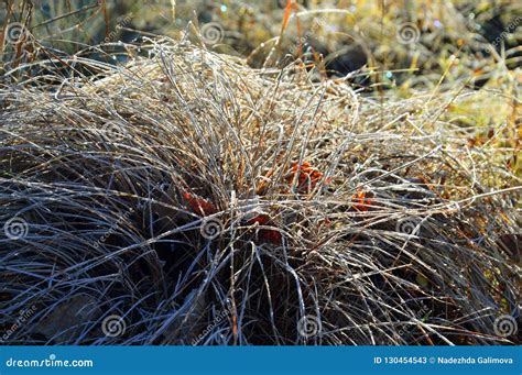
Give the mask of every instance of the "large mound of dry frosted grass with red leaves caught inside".
[[140, 48], [0, 90], [0, 223], [26, 225], [0, 236], [0, 324], [35, 306], [8, 342], [519, 342], [493, 321], [520, 313], [520, 178], [441, 120], [474, 92], [376, 102], [298, 63]]

